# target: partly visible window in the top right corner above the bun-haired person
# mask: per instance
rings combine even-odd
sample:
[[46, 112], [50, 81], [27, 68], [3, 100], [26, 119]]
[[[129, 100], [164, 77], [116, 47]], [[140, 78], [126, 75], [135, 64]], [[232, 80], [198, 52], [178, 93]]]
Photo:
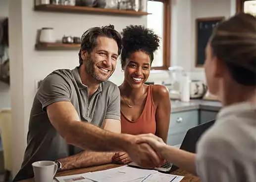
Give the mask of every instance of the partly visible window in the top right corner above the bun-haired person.
[[256, 0], [237, 0], [237, 12], [246, 12], [256, 16]]

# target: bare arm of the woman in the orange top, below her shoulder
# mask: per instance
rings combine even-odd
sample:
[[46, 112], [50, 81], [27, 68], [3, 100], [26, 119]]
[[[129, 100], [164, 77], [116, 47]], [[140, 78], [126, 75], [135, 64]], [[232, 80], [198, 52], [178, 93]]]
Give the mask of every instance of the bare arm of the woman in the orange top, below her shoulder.
[[169, 91], [166, 87], [161, 85], [154, 85], [152, 88], [154, 105], [156, 107], [155, 120], [156, 120], [156, 133], [157, 137], [162, 138], [166, 143], [170, 114], [171, 102], [169, 99]]

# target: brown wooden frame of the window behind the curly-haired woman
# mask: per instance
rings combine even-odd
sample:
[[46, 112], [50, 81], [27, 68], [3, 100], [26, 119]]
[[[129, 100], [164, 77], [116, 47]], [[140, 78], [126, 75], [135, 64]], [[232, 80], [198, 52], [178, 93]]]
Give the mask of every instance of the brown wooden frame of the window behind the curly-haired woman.
[[171, 65], [171, 0], [154, 0], [163, 3], [163, 65], [151, 70], [168, 70]]

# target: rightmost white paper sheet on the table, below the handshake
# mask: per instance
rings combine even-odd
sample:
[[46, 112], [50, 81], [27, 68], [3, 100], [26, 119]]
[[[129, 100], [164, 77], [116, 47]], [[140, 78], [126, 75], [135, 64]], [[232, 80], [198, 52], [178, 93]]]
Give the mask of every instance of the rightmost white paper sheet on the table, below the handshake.
[[148, 175], [141, 182], [180, 182], [183, 178], [183, 176], [169, 175], [157, 172]]

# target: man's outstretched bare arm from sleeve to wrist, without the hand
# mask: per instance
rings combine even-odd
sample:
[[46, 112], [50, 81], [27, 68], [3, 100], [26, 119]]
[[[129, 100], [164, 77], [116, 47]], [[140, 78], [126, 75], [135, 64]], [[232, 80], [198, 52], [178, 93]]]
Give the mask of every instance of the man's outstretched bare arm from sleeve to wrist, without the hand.
[[47, 106], [51, 124], [67, 143], [95, 151], [123, 150], [123, 136], [100, 129], [87, 122], [81, 122], [71, 102], [55, 102]]

